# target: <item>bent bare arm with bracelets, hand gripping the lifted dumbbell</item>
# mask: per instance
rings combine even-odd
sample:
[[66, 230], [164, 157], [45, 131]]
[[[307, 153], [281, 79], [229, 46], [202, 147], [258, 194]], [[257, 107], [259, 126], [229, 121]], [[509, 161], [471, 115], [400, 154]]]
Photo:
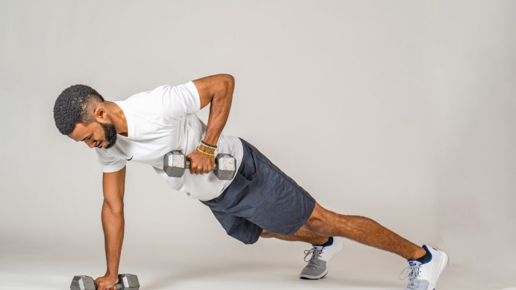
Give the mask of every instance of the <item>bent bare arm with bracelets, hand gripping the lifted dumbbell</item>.
[[[222, 128], [228, 120], [235, 79], [229, 74], [217, 74], [193, 80], [199, 91], [201, 109], [211, 103], [209, 107], [208, 124], [203, 141], [216, 145]], [[201, 146], [202, 151], [213, 154], [214, 149]], [[215, 158], [199, 151], [194, 151], [186, 158], [190, 161], [190, 173], [202, 174], [213, 170]]]

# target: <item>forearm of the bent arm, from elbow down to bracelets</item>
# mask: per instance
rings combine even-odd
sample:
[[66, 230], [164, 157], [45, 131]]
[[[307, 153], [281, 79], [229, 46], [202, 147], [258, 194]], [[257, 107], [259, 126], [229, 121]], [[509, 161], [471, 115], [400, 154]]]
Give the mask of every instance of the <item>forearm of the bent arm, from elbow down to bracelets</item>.
[[235, 88], [235, 80], [231, 75], [221, 75], [221, 77], [220, 87], [214, 93], [209, 107], [208, 124], [203, 139], [204, 142], [213, 145], [217, 144], [222, 129], [228, 121]]

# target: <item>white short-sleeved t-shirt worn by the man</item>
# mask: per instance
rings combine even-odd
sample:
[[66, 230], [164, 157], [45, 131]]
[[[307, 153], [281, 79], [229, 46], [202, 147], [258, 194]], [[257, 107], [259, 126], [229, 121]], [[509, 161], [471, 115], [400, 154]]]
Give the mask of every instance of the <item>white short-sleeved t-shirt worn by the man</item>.
[[[149, 164], [168, 185], [186, 192], [192, 199], [210, 200], [218, 197], [231, 180], [219, 180], [213, 173], [169, 177], [163, 171], [163, 157], [172, 150], [188, 155], [197, 149], [206, 133], [206, 125], [195, 114], [201, 100], [197, 87], [188, 82], [180, 86], [159, 86], [151, 91], [134, 94], [124, 101], [115, 101], [127, 120], [127, 137], [117, 136], [115, 146], [95, 148], [103, 172], [122, 169], [127, 160]], [[220, 135], [216, 152], [229, 153], [240, 165], [243, 148], [240, 139]]]

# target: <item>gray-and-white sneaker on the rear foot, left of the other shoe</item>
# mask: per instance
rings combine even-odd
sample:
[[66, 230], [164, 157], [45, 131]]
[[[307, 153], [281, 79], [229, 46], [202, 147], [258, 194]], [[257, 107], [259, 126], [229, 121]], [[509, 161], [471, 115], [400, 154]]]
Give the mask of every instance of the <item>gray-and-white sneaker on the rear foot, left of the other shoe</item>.
[[[304, 251], [304, 262], [308, 262], [308, 265], [303, 268], [299, 278], [309, 280], [324, 278], [328, 273], [331, 259], [342, 250], [343, 244], [343, 238], [333, 237], [329, 245], [316, 245], [312, 249]], [[307, 261], [310, 254], [312, 256]]]

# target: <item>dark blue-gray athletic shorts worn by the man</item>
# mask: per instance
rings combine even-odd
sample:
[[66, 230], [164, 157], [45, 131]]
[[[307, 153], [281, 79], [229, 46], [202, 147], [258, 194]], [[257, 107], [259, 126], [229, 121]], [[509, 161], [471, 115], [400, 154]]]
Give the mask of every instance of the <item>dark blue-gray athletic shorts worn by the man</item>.
[[243, 139], [238, 172], [222, 194], [201, 201], [211, 208], [228, 235], [255, 243], [262, 230], [292, 235], [308, 220], [315, 200]]

